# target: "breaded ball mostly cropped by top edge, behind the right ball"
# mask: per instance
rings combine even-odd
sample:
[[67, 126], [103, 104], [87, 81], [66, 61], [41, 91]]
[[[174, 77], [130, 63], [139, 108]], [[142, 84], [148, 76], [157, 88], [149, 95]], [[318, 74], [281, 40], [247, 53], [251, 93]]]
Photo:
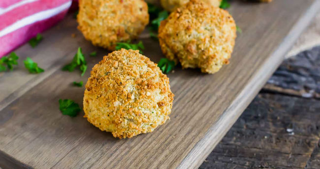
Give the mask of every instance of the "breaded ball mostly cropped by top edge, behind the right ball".
[[[222, 0], [202, 0], [202, 1], [209, 3], [215, 7], [219, 7]], [[178, 7], [181, 7], [188, 2], [189, 0], [160, 0], [161, 6], [165, 10], [170, 12], [173, 12]]]

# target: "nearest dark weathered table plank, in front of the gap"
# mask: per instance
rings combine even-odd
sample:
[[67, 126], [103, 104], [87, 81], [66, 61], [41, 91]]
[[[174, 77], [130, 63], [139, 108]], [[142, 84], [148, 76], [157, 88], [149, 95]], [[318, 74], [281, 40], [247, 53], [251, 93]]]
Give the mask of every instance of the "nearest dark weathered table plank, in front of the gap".
[[319, 112], [320, 100], [259, 94], [200, 168], [302, 169], [320, 140]]

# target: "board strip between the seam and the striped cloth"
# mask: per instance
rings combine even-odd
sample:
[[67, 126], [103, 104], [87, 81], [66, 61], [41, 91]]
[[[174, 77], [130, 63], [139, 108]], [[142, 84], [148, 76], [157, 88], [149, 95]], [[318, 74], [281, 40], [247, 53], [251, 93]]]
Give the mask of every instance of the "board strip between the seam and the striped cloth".
[[[68, 15], [58, 26], [42, 33], [43, 40], [37, 47], [25, 44], [14, 51], [20, 57], [19, 66], [14, 71], [0, 72], [0, 110], [69, 62], [79, 46], [88, 51], [86, 54], [97, 50], [76, 27], [75, 19]], [[72, 33], [76, 34], [75, 38], [71, 37]], [[98, 51], [106, 53], [103, 49]], [[23, 63], [26, 57], [31, 57], [45, 72], [30, 74]]]

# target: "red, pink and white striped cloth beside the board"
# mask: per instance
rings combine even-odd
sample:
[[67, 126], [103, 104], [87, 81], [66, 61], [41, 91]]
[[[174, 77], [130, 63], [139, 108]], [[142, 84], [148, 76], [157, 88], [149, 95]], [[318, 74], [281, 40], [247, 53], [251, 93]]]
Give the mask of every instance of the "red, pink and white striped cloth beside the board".
[[0, 0], [0, 57], [64, 18], [72, 0]]

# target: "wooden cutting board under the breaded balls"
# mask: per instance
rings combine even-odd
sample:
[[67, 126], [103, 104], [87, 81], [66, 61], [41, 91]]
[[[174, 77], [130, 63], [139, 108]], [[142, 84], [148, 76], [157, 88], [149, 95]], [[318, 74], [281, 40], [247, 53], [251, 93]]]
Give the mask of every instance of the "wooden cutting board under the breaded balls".
[[[154, 132], [116, 139], [83, 118], [59, 111], [60, 98], [82, 105], [90, 71], [63, 72], [80, 46], [89, 70], [107, 55], [76, 29], [70, 14], [43, 33], [34, 49], [16, 50], [19, 66], [0, 73], [0, 167], [36, 169], [173, 169], [197, 168], [256, 96], [320, 8], [320, 0], [274, 0], [272, 3], [234, 1], [228, 9], [238, 33], [230, 64], [214, 75], [175, 68], [170, 73], [175, 94], [171, 119]], [[75, 38], [71, 34], [75, 33]], [[144, 54], [163, 57], [157, 41], [145, 31]], [[97, 51], [96, 57], [89, 53]], [[29, 74], [22, 60], [30, 56], [41, 74]]]

